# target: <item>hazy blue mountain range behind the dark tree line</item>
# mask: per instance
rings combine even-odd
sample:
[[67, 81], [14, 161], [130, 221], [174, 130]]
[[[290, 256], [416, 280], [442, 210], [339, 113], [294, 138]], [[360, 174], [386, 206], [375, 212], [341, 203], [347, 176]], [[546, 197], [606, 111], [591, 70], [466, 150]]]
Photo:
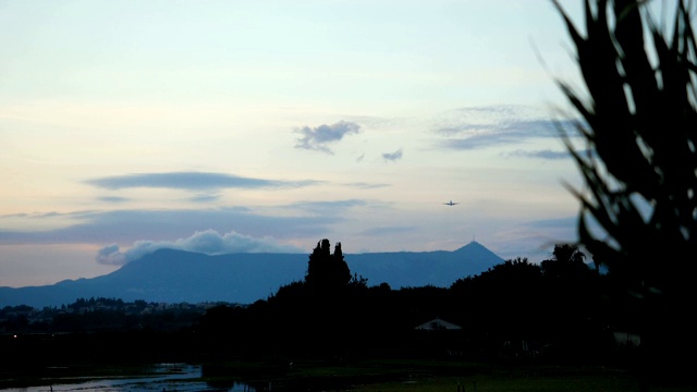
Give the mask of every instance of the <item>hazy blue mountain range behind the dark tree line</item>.
[[[0, 287], [0, 307], [41, 308], [77, 298], [106, 297], [157, 303], [228, 302], [250, 304], [284, 284], [305, 278], [309, 254], [230, 254], [209, 256], [159, 249], [109, 274], [65, 280], [52, 285]], [[477, 242], [453, 252], [344, 254], [351, 269], [368, 285], [392, 289], [450, 286], [479, 274], [503, 259]]]

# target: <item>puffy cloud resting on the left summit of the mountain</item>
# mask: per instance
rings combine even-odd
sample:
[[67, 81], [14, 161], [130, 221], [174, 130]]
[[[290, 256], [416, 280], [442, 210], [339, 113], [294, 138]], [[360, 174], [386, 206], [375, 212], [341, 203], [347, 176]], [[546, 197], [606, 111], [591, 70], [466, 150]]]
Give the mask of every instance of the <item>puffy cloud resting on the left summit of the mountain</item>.
[[111, 244], [99, 249], [95, 259], [103, 265], [122, 266], [158, 249], [187, 250], [206, 255], [305, 252], [293, 245], [281, 244], [269, 236], [255, 238], [234, 231], [221, 235], [215, 230], [205, 230], [175, 241], [136, 241], [125, 252], [121, 252], [118, 244]]

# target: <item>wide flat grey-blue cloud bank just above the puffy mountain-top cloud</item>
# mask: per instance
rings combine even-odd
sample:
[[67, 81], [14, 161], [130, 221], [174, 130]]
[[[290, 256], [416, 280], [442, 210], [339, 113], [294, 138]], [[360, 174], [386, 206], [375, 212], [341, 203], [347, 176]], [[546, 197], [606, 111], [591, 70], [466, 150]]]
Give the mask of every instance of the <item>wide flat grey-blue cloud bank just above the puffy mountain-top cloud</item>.
[[[41, 218], [34, 215], [25, 219], [32, 220], [32, 231], [0, 230], [0, 244], [103, 245], [152, 238], [154, 233], [157, 237], [152, 240], [176, 238], [204, 229], [220, 233], [234, 229], [252, 236], [302, 240], [325, 235], [331, 225], [345, 220], [340, 210], [331, 208], [322, 215], [307, 211], [288, 217], [255, 213], [243, 207], [76, 211], [41, 215]], [[61, 226], [38, 229], [44, 226], [44, 221], [50, 225], [58, 221]]]

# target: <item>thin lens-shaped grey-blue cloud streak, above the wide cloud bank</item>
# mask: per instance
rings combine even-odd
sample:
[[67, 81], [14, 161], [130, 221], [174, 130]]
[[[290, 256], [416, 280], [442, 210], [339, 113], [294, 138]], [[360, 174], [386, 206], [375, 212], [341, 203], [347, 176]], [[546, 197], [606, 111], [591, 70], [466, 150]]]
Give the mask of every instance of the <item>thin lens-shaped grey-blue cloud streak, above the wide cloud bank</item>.
[[134, 173], [87, 180], [85, 183], [107, 189], [133, 187], [210, 191], [220, 188], [286, 188], [316, 184], [316, 181], [250, 179], [223, 173], [171, 172]]

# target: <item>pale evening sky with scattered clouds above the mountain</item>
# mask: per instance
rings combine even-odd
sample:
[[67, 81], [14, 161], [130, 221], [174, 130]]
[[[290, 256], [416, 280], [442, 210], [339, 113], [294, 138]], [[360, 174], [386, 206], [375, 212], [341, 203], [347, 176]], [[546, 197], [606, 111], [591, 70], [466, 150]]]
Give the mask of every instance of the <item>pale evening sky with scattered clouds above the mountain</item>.
[[0, 286], [322, 238], [548, 259], [582, 185], [557, 79], [548, 0], [0, 0]]

